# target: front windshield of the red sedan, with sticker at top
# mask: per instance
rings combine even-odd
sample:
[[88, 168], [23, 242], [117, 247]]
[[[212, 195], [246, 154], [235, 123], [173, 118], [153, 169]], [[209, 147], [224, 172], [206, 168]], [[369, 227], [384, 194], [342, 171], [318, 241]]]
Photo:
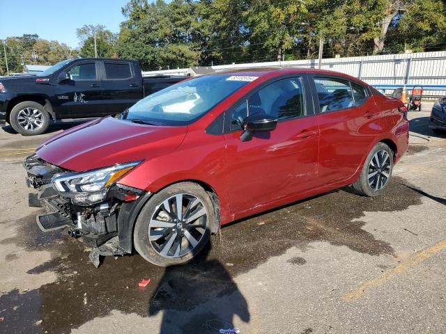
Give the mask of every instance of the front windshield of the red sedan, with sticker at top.
[[155, 125], [187, 125], [257, 77], [221, 74], [180, 82], [131, 106], [123, 119]]

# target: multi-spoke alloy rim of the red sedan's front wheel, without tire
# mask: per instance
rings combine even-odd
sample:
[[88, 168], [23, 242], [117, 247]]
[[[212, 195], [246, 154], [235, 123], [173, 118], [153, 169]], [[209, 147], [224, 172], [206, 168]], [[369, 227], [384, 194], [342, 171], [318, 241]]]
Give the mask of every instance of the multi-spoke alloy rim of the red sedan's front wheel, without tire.
[[163, 257], [182, 257], [199, 244], [207, 223], [203, 202], [189, 193], [178, 193], [157, 205], [148, 223], [148, 240]]

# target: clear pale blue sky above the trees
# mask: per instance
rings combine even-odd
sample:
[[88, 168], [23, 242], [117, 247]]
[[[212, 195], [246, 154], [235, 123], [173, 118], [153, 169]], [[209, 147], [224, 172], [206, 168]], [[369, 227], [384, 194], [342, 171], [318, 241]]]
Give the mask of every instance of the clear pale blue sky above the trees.
[[103, 24], [117, 33], [124, 20], [121, 7], [128, 0], [5, 0], [0, 3], [0, 39], [37, 33], [79, 47], [76, 28]]

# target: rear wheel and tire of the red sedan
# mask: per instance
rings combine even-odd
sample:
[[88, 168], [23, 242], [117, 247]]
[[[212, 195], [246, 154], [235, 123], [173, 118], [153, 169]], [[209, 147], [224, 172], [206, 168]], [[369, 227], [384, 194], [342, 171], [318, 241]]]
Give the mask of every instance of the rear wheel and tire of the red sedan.
[[382, 193], [392, 178], [393, 157], [393, 151], [385, 143], [377, 143], [365, 159], [353, 189], [362, 196]]

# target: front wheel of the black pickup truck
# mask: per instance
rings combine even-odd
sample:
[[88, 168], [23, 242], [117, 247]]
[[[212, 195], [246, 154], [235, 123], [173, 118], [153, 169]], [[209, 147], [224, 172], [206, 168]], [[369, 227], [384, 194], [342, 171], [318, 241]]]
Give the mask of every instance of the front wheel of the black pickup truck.
[[20, 102], [11, 110], [10, 125], [23, 136], [43, 134], [49, 125], [49, 115], [37, 102]]

